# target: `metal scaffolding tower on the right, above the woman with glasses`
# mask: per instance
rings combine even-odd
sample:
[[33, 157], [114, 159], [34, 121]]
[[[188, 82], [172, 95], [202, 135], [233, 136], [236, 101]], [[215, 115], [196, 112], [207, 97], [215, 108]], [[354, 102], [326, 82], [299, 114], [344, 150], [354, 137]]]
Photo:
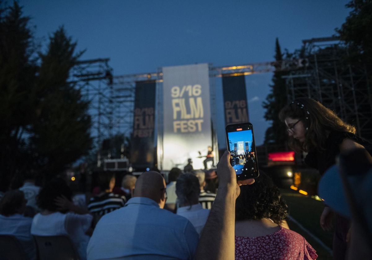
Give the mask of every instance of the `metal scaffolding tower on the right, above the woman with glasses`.
[[356, 126], [359, 136], [372, 139], [372, 95], [365, 65], [349, 64], [347, 48], [338, 38], [302, 42], [304, 58], [285, 76], [288, 101], [314, 98]]

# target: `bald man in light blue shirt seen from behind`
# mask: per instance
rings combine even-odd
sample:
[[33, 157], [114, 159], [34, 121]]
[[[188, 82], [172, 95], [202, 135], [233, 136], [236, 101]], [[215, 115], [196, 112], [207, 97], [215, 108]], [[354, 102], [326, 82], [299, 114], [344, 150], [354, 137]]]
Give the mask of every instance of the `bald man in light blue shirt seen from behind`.
[[164, 178], [142, 173], [125, 207], [97, 223], [87, 259], [193, 259], [199, 235], [186, 218], [163, 209], [166, 199]]

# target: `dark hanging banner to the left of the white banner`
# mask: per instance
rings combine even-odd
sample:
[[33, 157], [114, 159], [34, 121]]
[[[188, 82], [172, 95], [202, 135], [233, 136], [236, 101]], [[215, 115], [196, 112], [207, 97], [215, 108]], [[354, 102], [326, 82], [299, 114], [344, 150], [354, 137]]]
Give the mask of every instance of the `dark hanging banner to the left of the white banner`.
[[155, 81], [136, 82], [131, 163], [139, 170], [154, 166], [155, 92]]

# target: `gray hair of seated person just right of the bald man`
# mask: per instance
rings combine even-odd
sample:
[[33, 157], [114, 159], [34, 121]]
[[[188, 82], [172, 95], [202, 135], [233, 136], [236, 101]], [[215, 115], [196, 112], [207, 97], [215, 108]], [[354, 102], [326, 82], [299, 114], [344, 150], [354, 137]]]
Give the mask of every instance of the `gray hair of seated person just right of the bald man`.
[[193, 201], [198, 201], [200, 194], [199, 180], [191, 173], [185, 173], [177, 178], [176, 182], [177, 199], [181, 207], [193, 205]]

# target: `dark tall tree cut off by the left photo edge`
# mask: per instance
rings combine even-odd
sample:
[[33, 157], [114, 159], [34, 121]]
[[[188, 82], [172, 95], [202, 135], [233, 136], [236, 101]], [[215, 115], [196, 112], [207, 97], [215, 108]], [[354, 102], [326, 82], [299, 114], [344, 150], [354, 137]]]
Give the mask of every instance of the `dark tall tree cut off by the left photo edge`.
[[[0, 8], [3, 4], [0, 1]], [[29, 17], [15, 1], [0, 10], [0, 189], [25, 169], [35, 118], [35, 45]]]

